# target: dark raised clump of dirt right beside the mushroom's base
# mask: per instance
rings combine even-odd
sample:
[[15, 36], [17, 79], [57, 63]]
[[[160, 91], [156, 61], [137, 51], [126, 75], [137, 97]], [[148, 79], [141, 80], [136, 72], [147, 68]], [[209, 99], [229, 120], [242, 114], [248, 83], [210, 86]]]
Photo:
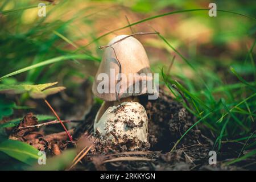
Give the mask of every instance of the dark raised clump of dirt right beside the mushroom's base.
[[[149, 119], [150, 150], [170, 151], [174, 143], [193, 125], [192, 115], [162, 89], [159, 90], [157, 100], [147, 100], [143, 97], [141, 103], [146, 108]], [[176, 148], [200, 143], [209, 142], [201, 135], [200, 130], [192, 129]]]

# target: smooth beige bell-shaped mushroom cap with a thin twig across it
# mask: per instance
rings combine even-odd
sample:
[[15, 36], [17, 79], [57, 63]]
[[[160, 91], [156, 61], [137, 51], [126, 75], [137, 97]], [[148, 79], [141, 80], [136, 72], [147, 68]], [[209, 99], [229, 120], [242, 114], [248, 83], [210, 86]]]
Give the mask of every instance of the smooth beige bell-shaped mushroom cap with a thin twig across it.
[[[127, 35], [119, 35], [112, 39], [108, 46], [117, 42], [118, 40], [125, 38]], [[113, 48], [111, 48], [113, 47]], [[141, 94], [154, 94], [148, 93], [147, 86], [142, 84], [142, 81], [153, 81], [152, 75], [148, 76], [147, 73], [151, 73], [150, 64], [148, 61], [147, 53], [142, 46], [142, 44], [132, 36], [129, 38], [123, 39], [118, 43], [113, 44], [111, 47], [105, 48], [104, 55], [102, 57], [102, 61], [100, 67], [98, 68], [97, 74], [94, 78], [93, 82], [93, 93], [97, 97], [101, 98], [104, 101], [117, 101], [117, 90], [115, 86], [117, 84], [121, 85], [119, 87], [119, 97], [126, 98], [130, 96], [139, 96]], [[113, 50], [114, 49], [114, 50]], [[119, 63], [121, 65], [121, 69]], [[114, 72], [110, 74], [110, 70]], [[114, 71], [113, 71], [114, 70]], [[126, 76], [126, 79], [121, 81], [115, 79], [118, 73], [121, 71], [123, 76]], [[97, 80], [97, 77], [100, 73], [106, 73], [108, 75], [108, 83], [109, 83], [109, 93], [99, 93], [98, 92], [98, 84], [102, 80]], [[129, 73], [138, 73], [136, 77], [132, 79], [129, 78]], [[140, 75], [141, 73], [145, 73], [144, 75]], [[135, 92], [129, 92], [135, 85], [139, 85], [139, 90]], [[152, 83], [154, 86], [154, 83]], [[113, 90], [110, 92], [110, 90]]]

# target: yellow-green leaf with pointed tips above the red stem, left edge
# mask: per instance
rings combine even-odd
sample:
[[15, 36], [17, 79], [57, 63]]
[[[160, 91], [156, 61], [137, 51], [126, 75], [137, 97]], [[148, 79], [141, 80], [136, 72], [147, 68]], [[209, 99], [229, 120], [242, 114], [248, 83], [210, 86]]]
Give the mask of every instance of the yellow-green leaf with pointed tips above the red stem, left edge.
[[63, 86], [47, 89], [49, 86], [56, 85], [56, 84], [57, 82], [47, 83], [47, 84], [38, 84], [38, 85], [28, 85], [28, 84], [0, 85], [0, 93], [20, 94], [20, 93], [28, 92], [28, 94], [32, 98], [35, 98], [35, 99], [46, 98], [51, 94], [55, 94], [65, 89], [65, 87]]

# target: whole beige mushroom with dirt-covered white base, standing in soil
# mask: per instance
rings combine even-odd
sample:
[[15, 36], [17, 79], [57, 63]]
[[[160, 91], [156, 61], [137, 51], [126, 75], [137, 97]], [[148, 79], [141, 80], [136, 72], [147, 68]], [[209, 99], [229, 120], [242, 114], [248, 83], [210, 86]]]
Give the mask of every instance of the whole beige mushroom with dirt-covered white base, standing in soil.
[[[106, 48], [93, 82], [93, 93], [104, 100], [94, 120], [94, 133], [134, 150], [147, 143], [148, 118], [137, 96], [155, 94], [146, 51], [132, 36], [119, 35]], [[104, 78], [104, 79], [103, 79]]]

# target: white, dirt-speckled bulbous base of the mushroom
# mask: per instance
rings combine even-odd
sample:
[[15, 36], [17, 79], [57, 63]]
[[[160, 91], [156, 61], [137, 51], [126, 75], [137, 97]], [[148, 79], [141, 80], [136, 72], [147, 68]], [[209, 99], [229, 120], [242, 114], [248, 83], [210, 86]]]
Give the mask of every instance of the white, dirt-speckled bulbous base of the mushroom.
[[94, 122], [94, 134], [115, 144], [126, 145], [131, 151], [149, 146], [148, 117], [144, 107], [139, 102], [123, 102], [121, 105], [123, 107], [109, 107], [98, 122]]

